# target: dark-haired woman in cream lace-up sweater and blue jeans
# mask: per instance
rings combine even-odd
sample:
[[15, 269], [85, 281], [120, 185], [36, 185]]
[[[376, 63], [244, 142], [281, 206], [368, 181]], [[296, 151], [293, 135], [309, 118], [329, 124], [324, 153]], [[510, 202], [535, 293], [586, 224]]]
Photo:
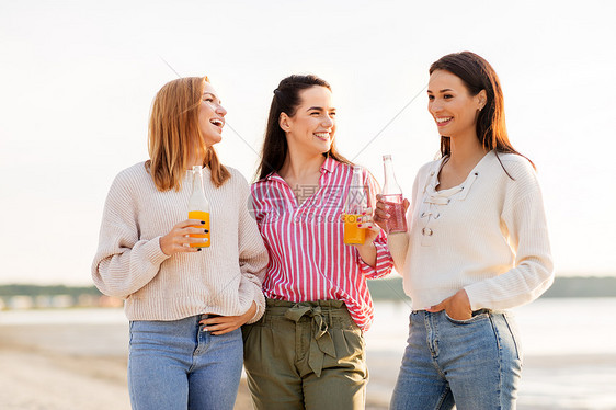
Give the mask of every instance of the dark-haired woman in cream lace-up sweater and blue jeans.
[[[513, 409], [522, 352], [506, 309], [554, 281], [534, 164], [509, 141], [483, 58], [438, 59], [427, 96], [442, 158], [417, 175], [409, 232], [388, 238], [412, 303], [391, 409]], [[377, 223], [387, 209], [379, 201]]]

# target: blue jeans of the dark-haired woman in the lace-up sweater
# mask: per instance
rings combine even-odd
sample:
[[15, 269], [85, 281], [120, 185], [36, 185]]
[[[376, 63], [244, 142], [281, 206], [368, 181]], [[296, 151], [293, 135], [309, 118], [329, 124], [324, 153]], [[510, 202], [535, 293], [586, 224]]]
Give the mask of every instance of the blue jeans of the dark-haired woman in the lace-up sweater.
[[390, 409], [515, 409], [522, 356], [507, 315], [413, 311]]

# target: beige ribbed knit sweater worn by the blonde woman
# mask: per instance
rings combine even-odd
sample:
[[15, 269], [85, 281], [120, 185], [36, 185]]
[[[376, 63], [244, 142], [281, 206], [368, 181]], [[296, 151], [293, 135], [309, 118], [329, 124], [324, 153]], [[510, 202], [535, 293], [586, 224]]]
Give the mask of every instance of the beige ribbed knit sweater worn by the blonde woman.
[[265, 310], [261, 282], [267, 251], [249, 214], [246, 179], [228, 168], [231, 178], [216, 189], [204, 169], [210, 203], [209, 248], [166, 255], [160, 238], [189, 218], [191, 181], [182, 190], [160, 192], [144, 162], [114, 180], [103, 212], [92, 277], [105, 295], [125, 298], [129, 320], [176, 320], [205, 312], [238, 316], [252, 301]]

